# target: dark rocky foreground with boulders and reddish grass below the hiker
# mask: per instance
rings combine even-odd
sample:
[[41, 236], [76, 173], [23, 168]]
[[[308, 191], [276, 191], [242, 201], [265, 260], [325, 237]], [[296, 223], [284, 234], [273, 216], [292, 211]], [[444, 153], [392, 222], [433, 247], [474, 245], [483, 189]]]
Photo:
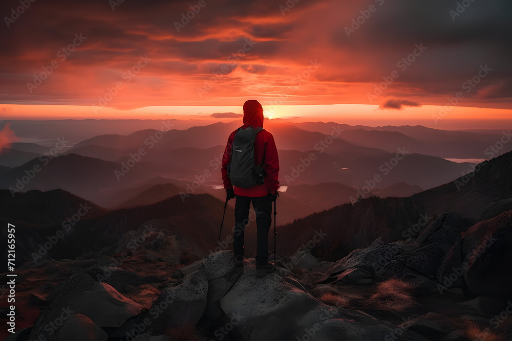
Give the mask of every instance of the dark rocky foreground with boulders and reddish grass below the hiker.
[[512, 211], [476, 224], [447, 212], [332, 263], [278, 253], [261, 279], [253, 259], [236, 268], [231, 251], [150, 226], [19, 268], [7, 340], [512, 340]]

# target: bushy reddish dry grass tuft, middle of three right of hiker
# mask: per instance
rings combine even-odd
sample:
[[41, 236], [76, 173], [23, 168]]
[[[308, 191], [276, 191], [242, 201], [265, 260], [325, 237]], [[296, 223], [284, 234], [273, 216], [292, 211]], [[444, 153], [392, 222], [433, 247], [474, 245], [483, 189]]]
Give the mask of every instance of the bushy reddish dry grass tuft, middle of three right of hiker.
[[379, 283], [376, 292], [370, 298], [378, 309], [403, 311], [416, 305], [411, 283], [392, 278]]

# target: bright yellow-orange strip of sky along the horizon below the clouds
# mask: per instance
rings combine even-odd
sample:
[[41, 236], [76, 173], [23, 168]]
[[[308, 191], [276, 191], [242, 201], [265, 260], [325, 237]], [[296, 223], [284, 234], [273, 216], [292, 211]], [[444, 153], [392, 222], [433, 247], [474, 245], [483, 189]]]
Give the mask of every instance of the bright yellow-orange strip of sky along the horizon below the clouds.
[[[438, 129], [486, 128], [507, 129], [512, 126], [512, 109], [423, 105], [401, 110], [380, 109], [370, 104], [269, 105], [261, 101], [264, 116], [272, 121], [323, 121], [350, 125], [424, 125]], [[102, 107], [95, 112], [87, 105], [0, 104], [4, 120], [62, 120], [62, 119], [181, 119], [205, 120], [212, 123], [236, 120], [243, 113], [240, 106], [146, 106], [134, 109]], [[224, 118], [211, 117], [226, 113]]]

